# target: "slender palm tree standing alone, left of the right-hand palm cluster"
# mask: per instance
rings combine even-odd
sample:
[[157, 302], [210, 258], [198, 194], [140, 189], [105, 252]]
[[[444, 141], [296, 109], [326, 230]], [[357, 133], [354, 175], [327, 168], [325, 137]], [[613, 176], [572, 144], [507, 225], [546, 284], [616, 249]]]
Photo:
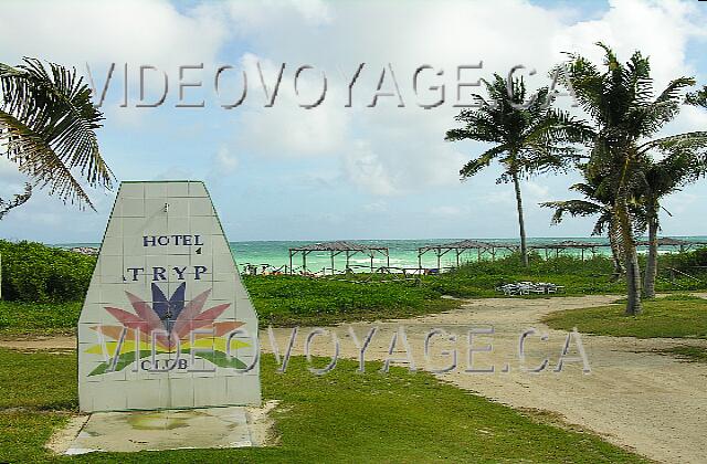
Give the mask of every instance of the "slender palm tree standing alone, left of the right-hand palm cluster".
[[523, 213], [520, 179], [534, 173], [553, 169], [566, 169], [577, 159], [577, 152], [569, 146], [587, 136], [587, 127], [576, 122], [568, 113], [550, 108], [552, 96], [547, 87], [526, 101], [523, 80], [510, 83], [498, 74], [493, 82], [482, 80], [488, 101], [473, 95], [477, 109], [464, 109], [456, 120], [464, 127], [446, 133], [446, 140], [472, 139], [495, 146], [478, 158], [469, 160], [461, 170], [462, 179], [478, 173], [497, 160], [504, 173], [496, 183], [513, 182], [518, 210], [520, 230], [520, 254], [524, 265], [528, 265], [528, 247]]

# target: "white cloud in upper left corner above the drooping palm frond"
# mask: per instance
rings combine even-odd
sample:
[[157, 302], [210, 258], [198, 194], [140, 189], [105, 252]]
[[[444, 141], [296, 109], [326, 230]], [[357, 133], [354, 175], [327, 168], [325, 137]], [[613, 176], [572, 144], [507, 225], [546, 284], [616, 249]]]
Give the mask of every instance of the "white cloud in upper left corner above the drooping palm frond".
[[[31, 56], [73, 66], [88, 85], [93, 77], [98, 95], [115, 63], [103, 110], [107, 124], [134, 129], [146, 124], [145, 108], [134, 106], [141, 65], [167, 73], [168, 98], [176, 99], [179, 66], [218, 63], [230, 34], [219, 3], [180, 11], [167, 0], [8, 1], [0, 15], [0, 56], [11, 65]], [[162, 77], [149, 71], [145, 76], [146, 102], [158, 101]], [[126, 81], [130, 104], [118, 107]]]

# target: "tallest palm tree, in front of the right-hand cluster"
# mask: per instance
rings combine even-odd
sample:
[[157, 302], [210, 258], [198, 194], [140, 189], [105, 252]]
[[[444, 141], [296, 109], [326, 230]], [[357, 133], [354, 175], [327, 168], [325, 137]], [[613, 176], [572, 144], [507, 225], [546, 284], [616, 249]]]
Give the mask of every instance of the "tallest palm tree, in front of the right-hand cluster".
[[622, 64], [609, 46], [598, 45], [604, 50], [603, 71], [580, 55], [570, 55], [566, 70], [577, 99], [595, 126], [587, 172], [601, 179], [602, 188], [613, 196], [614, 233], [626, 267], [626, 314], [637, 315], [642, 312], [641, 271], [630, 209], [636, 191], [644, 189], [644, 159], [658, 147], [701, 144], [707, 133], [644, 141], [677, 115], [684, 91], [695, 81], [678, 77], [654, 96], [647, 57], [635, 52]]

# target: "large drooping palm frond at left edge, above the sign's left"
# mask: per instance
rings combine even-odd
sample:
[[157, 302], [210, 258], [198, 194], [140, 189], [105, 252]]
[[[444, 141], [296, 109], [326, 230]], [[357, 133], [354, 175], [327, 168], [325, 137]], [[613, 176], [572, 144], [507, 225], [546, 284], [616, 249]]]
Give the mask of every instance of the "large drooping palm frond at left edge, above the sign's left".
[[95, 209], [72, 169], [91, 187], [112, 187], [95, 135], [102, 119], [76, 70], [34, 59], [0, 63], [0, 152], [35, 186], [80, 208]]

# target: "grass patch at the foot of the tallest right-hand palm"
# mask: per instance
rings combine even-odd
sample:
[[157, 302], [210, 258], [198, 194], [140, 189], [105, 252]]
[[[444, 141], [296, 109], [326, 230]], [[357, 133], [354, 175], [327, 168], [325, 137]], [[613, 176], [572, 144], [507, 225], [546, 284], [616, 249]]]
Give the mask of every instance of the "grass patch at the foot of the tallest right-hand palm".
[[625, 316], [614, 304], [552, 313], [544, 319], [551, 328], [584, 334], [637, 338], [707, 338], [707, 299], [672, 295], [643, 302], [643, 314]]

